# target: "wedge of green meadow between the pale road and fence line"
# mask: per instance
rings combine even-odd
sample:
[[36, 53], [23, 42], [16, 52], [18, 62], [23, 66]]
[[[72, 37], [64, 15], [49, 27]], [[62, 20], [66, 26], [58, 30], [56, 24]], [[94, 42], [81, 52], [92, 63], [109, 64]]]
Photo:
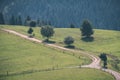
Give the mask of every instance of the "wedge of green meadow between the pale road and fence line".
[[56, 50], [0, 30], [0, 75], [78, 66], [90, 61], [81, 54]]

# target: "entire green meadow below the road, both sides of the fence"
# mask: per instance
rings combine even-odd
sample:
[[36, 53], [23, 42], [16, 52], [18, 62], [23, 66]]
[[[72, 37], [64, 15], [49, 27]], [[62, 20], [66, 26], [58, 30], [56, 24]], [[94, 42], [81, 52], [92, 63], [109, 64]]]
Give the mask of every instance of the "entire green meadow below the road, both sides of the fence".
[[81, 54], [73, 56], [0, 31], [0, 80], [114, 80], [99, 70], [61, 69], [89, 62]]

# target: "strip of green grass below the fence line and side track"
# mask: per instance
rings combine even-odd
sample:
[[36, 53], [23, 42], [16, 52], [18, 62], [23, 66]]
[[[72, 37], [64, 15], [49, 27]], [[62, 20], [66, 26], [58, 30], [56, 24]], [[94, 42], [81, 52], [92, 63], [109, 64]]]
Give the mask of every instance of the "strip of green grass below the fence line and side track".
[[115, 80], [110, 74], [94, 69], [63, 69], [9, 76], [7, 80]]

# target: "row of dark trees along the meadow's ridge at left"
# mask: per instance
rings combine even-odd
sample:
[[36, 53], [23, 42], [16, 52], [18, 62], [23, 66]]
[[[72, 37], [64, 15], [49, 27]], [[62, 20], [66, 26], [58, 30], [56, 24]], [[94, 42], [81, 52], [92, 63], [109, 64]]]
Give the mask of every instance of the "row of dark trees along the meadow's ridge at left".
[[9, 20], [5, 20], [3, 13], [0, 12], [0, 24], [29, 26], [31, 21], [39, 27], [44, 25], [51, 25], [50, 21], [40, 20], [39, 18], [37, 20], [32, 20], [30, 16], [27, 16], [25, 20], [23, 20], [21, 15], [11, 15]]

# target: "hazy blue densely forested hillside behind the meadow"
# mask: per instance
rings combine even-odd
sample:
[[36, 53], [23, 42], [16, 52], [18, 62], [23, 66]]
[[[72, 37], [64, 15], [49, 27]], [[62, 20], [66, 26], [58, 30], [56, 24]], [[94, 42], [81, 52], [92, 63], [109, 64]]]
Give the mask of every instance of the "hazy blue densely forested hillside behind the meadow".
[[51, 22], [55, 27], [79, 27], [88, 19], [94, 28], [120, 30], [120, 0], [0, 0], [6, 22], [11, 15]]

